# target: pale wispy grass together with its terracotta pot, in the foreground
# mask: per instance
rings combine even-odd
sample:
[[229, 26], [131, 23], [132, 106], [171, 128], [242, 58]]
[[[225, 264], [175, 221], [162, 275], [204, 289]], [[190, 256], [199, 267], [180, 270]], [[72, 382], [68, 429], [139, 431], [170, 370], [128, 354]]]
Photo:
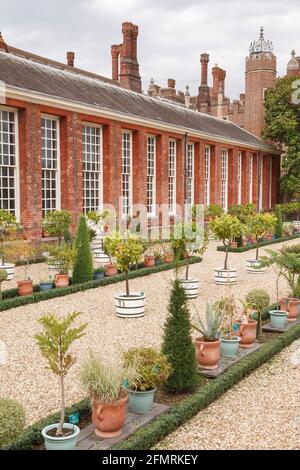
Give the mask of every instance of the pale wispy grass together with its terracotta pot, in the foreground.
[[112, 438], [122, 433], [128, 395], [125, 381], [137, 378], [135, 367], [104, 364], [93, 352], [81, 367], [81, 382], [92, 402], [92, 421], [99, 437]]

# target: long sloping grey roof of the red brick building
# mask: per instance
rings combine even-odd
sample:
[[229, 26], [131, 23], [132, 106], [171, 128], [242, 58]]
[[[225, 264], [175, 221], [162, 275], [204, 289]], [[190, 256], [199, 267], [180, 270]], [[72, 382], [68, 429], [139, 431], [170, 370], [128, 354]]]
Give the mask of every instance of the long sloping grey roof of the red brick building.
[[[64, 64], [39, 60], [38, 56], [0, 51], [0, 80], [10, 86], [34, 91], [48, 96], [95, 106], [99, 109], [122, 112], [175, 126], [190, 131], [203, 132], [223, 139], [243, 142], [268, 150], [276, 147], [248, 133], [237, 125], [189, 110], [177, 104], [151, 98], [147, 95], [125, 90], [112, 80], [85, 73]], [[21, 51], [22, 52], [22, 51]]]

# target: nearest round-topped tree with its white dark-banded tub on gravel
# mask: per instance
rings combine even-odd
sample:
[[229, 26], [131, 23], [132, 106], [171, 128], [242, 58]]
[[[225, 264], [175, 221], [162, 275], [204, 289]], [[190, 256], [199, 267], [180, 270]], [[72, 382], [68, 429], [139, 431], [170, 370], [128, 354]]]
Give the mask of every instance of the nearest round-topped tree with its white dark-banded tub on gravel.
[[114, 253], [119, 270], [125, 273], [126, 285], [125, 293], [115, 295], [116, 313], [120, 318], [138, 318], [145, 315], [146, 296], [144, 292], [130, 292], [128, 275], [130, 267], [140, 260], [143, 245], [138, 237], [128, 232], [125, 237], [119, 241]]

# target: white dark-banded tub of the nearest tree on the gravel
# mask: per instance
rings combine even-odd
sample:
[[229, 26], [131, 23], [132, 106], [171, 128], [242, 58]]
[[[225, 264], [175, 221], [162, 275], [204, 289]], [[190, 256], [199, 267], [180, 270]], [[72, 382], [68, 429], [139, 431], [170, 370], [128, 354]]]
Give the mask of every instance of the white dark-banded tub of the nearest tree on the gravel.
[[139, 318], [145, 315], [144, 292], [132, 292], [130, 297], [126, 294], [115, 295], [115, 306], [117, 317], [120, 318]]

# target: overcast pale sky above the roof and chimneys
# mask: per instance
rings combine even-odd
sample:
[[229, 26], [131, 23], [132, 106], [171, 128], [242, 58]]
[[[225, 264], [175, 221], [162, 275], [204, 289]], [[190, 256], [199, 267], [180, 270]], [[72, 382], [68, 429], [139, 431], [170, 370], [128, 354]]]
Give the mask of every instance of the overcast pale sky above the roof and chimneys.
[[122, 40], [121, 23], [140, 28], [138, 59], [143, 89], [176, 79], [197, 93], [199, 56], [227, 71], [226, 94], [244, 91], [244, 61], [259, 36], [274, 43], [283, 74], [293, 48], [300, 55], [299, 0], [0, 0], [6, 42], [59, 61], [76, 52], [78, 67], [111, 76], [111, 44]]

